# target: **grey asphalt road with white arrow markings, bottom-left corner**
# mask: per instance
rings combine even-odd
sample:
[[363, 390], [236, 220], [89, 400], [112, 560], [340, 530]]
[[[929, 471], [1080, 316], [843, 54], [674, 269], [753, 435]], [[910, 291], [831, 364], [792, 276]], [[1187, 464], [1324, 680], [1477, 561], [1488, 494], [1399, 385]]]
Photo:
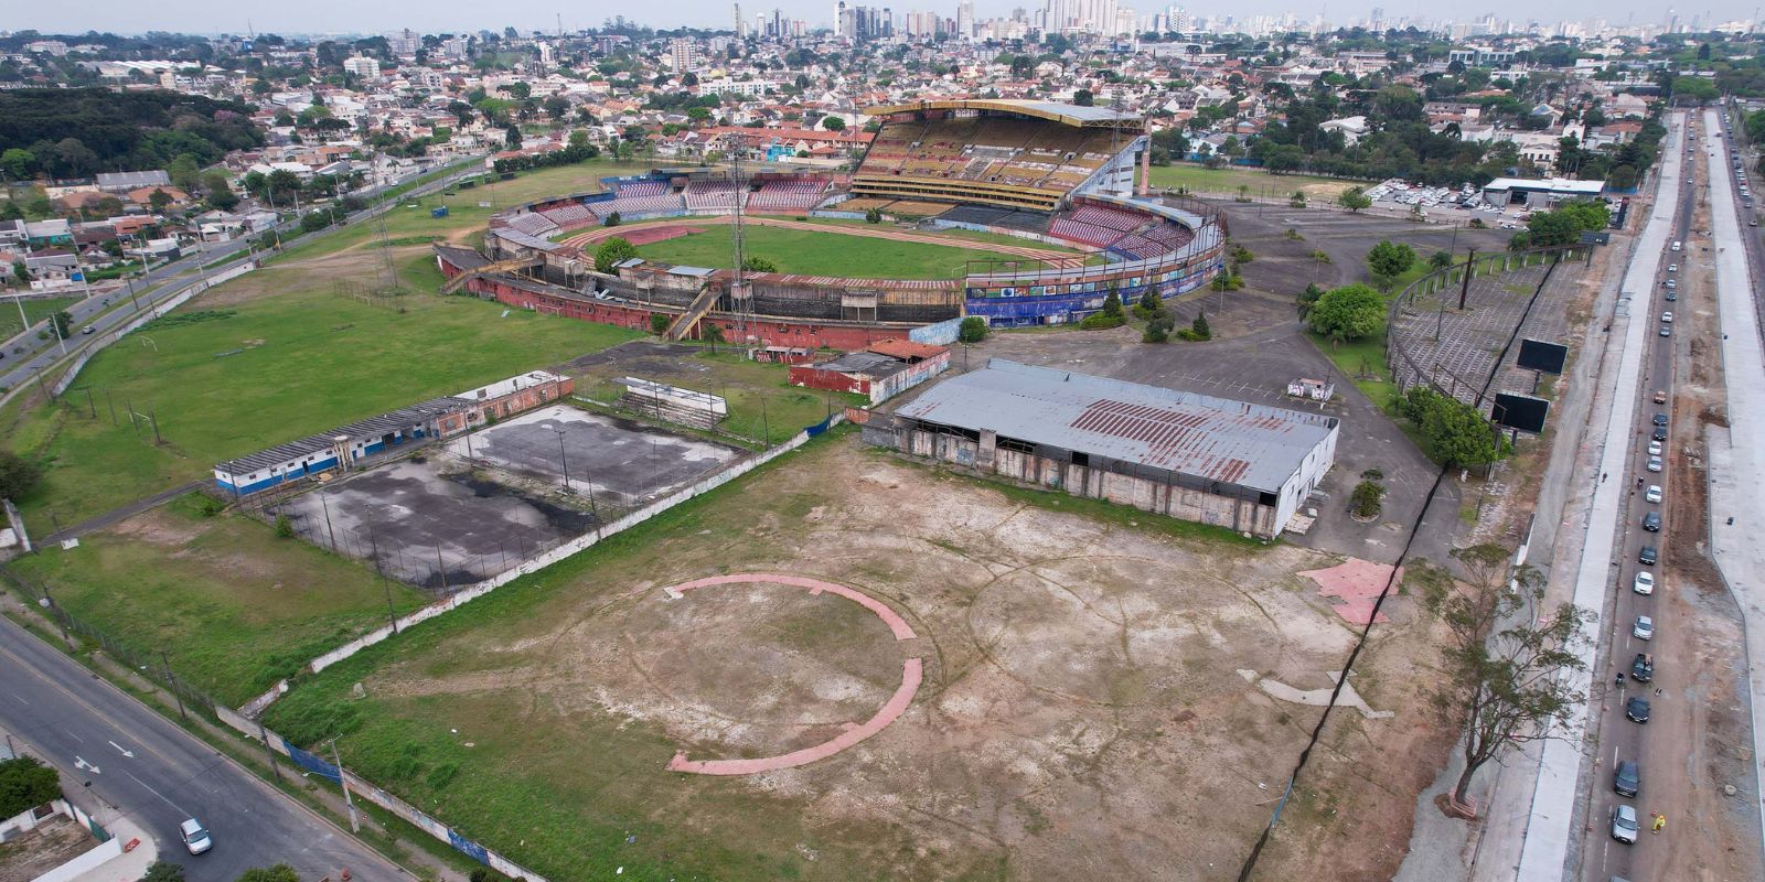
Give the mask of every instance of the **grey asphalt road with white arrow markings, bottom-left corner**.
[[[99, 822], [129, 815], [191, 882], [233, 882], [277, 863], [307, 880], [335, 880], [342, 868], [362, 882], [411, 878], [9, 619], [0, 619], [0, 725], [48, 757], [64, 787], [90, 781], [95, 799], [86, 804], [115, 806]], [[288, 766], [284, 774], [293, 774]], [[210, 852], [184, 848], [178, 824], [187, 817], [212, 831]]]

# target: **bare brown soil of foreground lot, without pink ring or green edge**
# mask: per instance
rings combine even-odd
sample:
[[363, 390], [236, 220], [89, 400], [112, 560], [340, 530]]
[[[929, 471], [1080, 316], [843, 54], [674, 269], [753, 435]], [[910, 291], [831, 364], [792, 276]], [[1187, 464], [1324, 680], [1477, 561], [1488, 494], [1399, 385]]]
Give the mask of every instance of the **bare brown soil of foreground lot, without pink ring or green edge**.
[[[727, 841], [754, 822], [717, 810], [738, 789], [750, 815], [766, 804], [789, 813], [784, 827], [821, 834], [822, 857], [805, 870], [814, 878], [865, 868], [879, 878], [1213, 880], [1250, 852], [1320, 713], [1271, 699], [1237, 670], [1324, 688], [1354, 640], [1294, 575], [1333, 557], [1108, 526], [856, 439], [803, 453], [697, 522], [706, 527], [690, 542], [584, 575], [611, 591], [567, 589], [515, 633], [395, 663], [369, 691], [461, 707], [503, 695], [528, 707], [519, 729], [545, 732], [533, 755], [575, 755], [570, 732], [604, 732], [611, 720], [665, 732], [694, 759], [734, 759], [867, 720], [900, 683], [900, 660], [921, 656], [913, 707], [854, 748], [704, 789], [664, 774], [665, 757], [630, 759], [655, 781], [637, 789], [642, 771], [625, 774], [621, 790], [642, 796], [609, 810]], [[897, 642], [854, 603], [784, 586], [662, 591], [732, 572], [858, 587], [918, 637]], [[1356, 686], [1396, 716], [1333, 716], [1266, 878], [1396, 870], [1444, 746], [1417, 709], [1416, 674], [1433, 663], [1428, 624], [1408, 598], [1389, 612]]]

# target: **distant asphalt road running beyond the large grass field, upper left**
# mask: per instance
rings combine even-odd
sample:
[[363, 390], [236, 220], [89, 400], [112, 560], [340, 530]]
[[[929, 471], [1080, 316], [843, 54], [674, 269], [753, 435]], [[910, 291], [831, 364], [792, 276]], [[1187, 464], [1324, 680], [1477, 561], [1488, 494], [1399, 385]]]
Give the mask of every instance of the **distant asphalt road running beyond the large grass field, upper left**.
[[[480, 166], [477, 162], [468, 162], [464, 168], [457, 169], [455, 173], [448, 175], [445, 178], [429, 182], [429, 183], [425, 183], [422, 187], [413, 189], [411, 192], [401, 194], [401, 199], [415, 198], [415, 196], [425, 196], [429, 192], [434, 192], [434, 191], [439, 191], [443, 187], [448, 187], [448, 185], [455, 183], [461, 178], [466, 178], [466, 176], [471, 176], [471, 175], [478, 175], [480, 171], [482, 169], [480, 169]], [[422, 171], [422, 173], [408, 175], [406, 178], [390, 182], [390, 183], [381, 185], [381, 187], [372, 187], [372, 189], [367, 189], [367, 191], [357, 191], [355, 196], [362, 196], [362, 198], [372, 199], [372, 198], [376, 198], [385, 189], [401, 187], [406, 182], [409, 182], [413, 178], [418, 178], [422, 175], [427, 175], [427, 173], [429, 171]], [[383, 212], [390, 212], [397, 205], [399, 205], [399, 199], [392, 199], [392, 201], [387, 201], [385, 205], [379, 205], [379, 206], [364, 208], [364, 210], [349, 215], [348, 222], [349, 224], [358, 224], [362, 220], [367, 220], [367, 219], [374, 217], [376, 208], [383, 210]], [[319, 231], [314, 231], [314, 233], [295, 235], [297, 226], [298, 224], [295, 220], [288, 220], [288, 222], [284, 222], [284, 224], [281, 224], [277, 228], [277, 229], [282, 231], [284, 236], [291, 236], [291, 238], [284, 238], [282, 240], [282, 247], [291, 249], [295, 245], [311, 242], [314, 238], [319, 238], [319, 236], [325, 236], [325, 235], [330, 235], [330, 233], [341, 229], [341, 228], [332, 226], [332, 228], [325, 228], [325, 229], [319, 229]], [[148, 272], [145, 279], [136, 279], [134, 280], [134, 298], [132, 298], [132, 303], [129, 307], [125, 307], [125, 309], [113, 309], [113, 310], [109, 310], [109, 312], [106, 312], [102, 316], [92, 318], [92, 316], [95, 316], [95, 314], [99, 314], [99, 312], [102, 312], [106, 309], [111, 309], [111, 305], [115, 305], [115, 303], [122, 303], [125, 300], [131, 300], [129, 288], [124, 288], [120, 291], [111, 291], [111, 293], [102, 295], [102, 296], [92, 296], [92, 298], [86, 298], [86, 300], [83, 300], [83, 302], [74, 303], [72, 307], [69, 307], [67, 312], [72, 318], [72, 339], [65, 340], [65, 351], [72, 353], [78, 348], [86, 346], [90, 340], [95, 339], [95, 337], [81, 335], [79, 328], [85, 328], [85, 326], [90, 325], [94, 328], [94, 335], [102, 333], [106, 330], [111, 330], [115, 326], [118, 326], [118, 325], [127, 323], [134, 316], [138, 316], [139, 309], [152, 307], [154, 303], [157, 303], [157, 302], [161, 302], [161, 300], [164, 300], [164, 298], [168, 298], [168, 296], [182, 291], [184, 286], [199, 280], [203, 275], [214, 275], [214, 273], [229, 270], [229, 268], [238, 266], [240, 263], [245, 263], [247, 259], [252, 258], [247, 252], [244, 240], [205, 242], [205, 243], [194, 245], [192, 250], [194, 252], [189, 254], [189, 256], [185, 256], [184, 259], [169, 263], [166, 266], [159, 266], [159, 268]], [[203, 265], [214, 263], [215, 259], [219, 259], [219, 258], [222, 258], [226, 254], [235, 254], [237, 259], [233, 259], [233, 261], [222, 265], [222, 266], [215, 266], [214, 270], [201, 270]], [[7, 309], [7, 305], [0, 305], [0, 309]], [[53, 337], [49, 340], [39, 340], [35, 333], [26, 332], [21, 337], [18, 337], [12, 344], [9, 344], [7, 349], [5, 349], [5, 360], [0, 362], [0, 386], [18, 388], [18, 386], [21, 386], [25, 383], [32, 383], [32, 381], [37, 379], [37, 374], [41, 370], [48, 370], [48, 367], [53, 365], [55, 362], [58, 362], [60, 358], [64, 358], [62, 340], [56, 340]], [[44, 377], [44, 379], [48, 379], [48, 377]]]

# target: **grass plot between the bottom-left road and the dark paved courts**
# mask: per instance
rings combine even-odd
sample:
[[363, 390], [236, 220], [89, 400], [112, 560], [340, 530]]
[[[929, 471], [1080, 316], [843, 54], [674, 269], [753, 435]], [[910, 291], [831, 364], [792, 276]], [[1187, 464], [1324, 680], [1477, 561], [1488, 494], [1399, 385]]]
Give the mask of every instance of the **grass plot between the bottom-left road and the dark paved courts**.
[[9, 566], [55, 602], [231, 706], [302, 663], [422, 605], [367, 568], [245, 517], [203, 517], [192, 496]]

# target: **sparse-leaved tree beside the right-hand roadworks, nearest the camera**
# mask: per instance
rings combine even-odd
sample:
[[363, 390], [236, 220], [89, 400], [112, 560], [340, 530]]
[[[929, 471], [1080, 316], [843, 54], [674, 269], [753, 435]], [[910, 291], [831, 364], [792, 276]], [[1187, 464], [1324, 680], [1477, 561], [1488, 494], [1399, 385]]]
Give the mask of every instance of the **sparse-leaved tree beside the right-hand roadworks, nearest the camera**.
[[1500, 545], [1454, 549], [1463, 586], [1444, 568], [1417, 561], [1405, 579], [1419, 587], [1423, 609], [1447, 626], [1446, 676], [1428, 690], [1442, 721], [1463, 727], [1465, 771], [1453, 801], [1467, 806], [1467, 790], [1484, 764], [1530, 741], [1569, 737], [1576, 690], [1564, 672], [1587, 665], [1574, 651], [1587, 612], [1544, 602], [1544, 577], [1521, 564], [1507, 572], [1511, 552]]

